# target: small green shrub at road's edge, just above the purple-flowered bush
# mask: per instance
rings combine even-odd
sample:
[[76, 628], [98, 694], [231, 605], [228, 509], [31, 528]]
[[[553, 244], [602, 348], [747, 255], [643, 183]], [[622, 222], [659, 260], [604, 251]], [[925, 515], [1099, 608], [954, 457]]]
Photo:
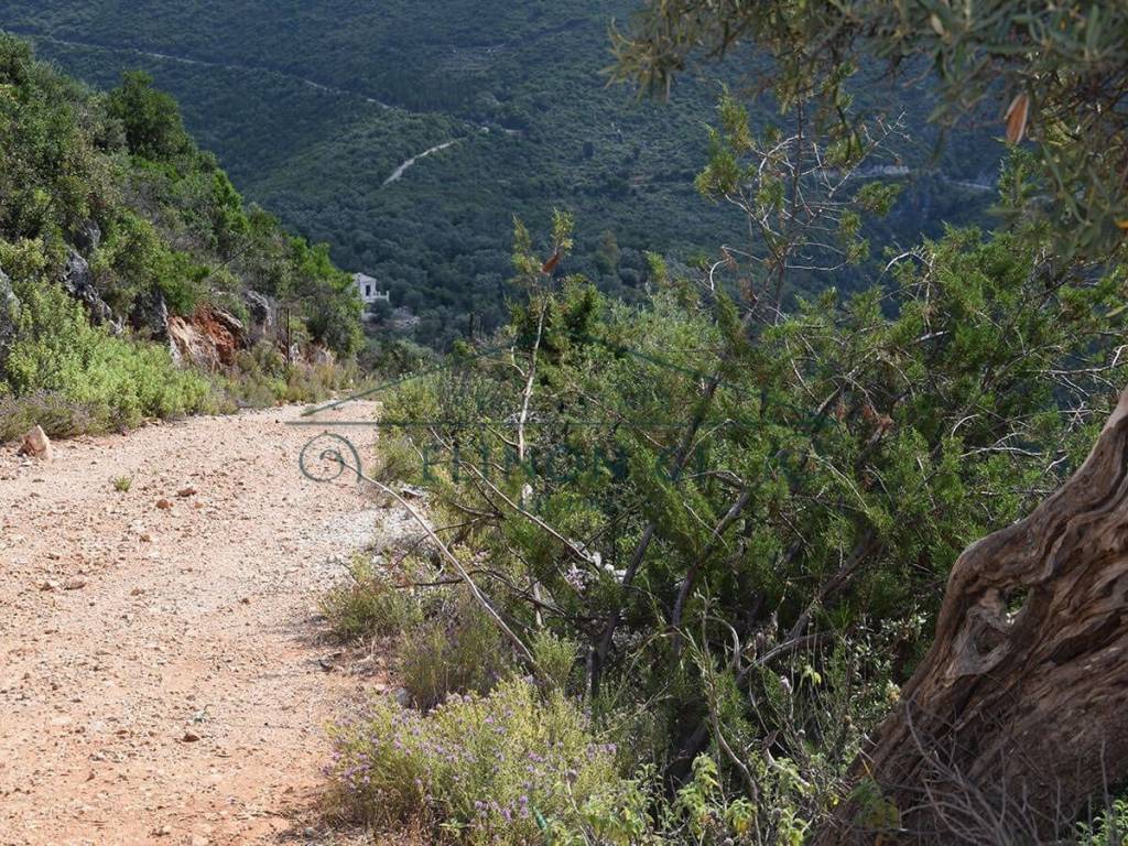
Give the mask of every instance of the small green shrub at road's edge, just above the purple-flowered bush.
[[418, 606], [396, 589], [387, 575], [358, 557], [352, 581], [326, 593], [321, 614], [333, 633], [343, 641], [372, 635], [390, 635], [417, 619]]

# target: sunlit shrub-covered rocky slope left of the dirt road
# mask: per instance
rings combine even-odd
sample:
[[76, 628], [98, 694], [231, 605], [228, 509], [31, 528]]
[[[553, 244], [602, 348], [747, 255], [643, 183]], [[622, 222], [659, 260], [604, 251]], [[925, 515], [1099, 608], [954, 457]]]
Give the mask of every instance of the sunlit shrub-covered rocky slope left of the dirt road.
[[356, 352], [352, 279], [245, 205], [143, 73], [94, 92], [0, 36], [0, 440], [312, 398], [335, 381], [291, 367], [276, 333], [222, 373], [179, 367], [177, 318], [221, 315], [241, 343], [284, 306], [285, 343]]

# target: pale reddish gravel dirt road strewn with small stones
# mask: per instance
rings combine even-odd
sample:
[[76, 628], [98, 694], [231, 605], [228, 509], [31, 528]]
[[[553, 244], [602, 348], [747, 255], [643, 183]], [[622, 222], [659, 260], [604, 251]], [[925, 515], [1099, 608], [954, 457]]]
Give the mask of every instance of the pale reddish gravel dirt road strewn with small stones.
[[0, 450], [0, 844], [363, 839], [320, 768], [380, 670], [341, 667], [317, 599], [389, 512], [302, 476], [300, 411]]

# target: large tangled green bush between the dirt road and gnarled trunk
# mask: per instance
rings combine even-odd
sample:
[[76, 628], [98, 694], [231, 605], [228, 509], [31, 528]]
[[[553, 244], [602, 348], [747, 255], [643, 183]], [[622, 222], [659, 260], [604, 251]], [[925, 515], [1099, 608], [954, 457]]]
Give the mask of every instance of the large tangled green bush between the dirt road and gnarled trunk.
[[760, 317], [704, 274], [609, 302], [515, 240], [535, 296], [503, 352], [381, 397], [388, 423], [435, 421], [394, 437], [437, 506], [474, 515], [451, 543], [499, 574], [491, 601], [552, 633], [534, 654], [583, 644], [564, 689], [675, 782], [710, 755], [724, 799], [698, 835], [746, 820], [743, 795], [757, 836], [799, 841], [926, 647], [955, 556], [1089, 448], [1128, 376], [1108, 363], [1125, 276], [1057, 265], [1037, 230], [953, 230], [867, 291]]

